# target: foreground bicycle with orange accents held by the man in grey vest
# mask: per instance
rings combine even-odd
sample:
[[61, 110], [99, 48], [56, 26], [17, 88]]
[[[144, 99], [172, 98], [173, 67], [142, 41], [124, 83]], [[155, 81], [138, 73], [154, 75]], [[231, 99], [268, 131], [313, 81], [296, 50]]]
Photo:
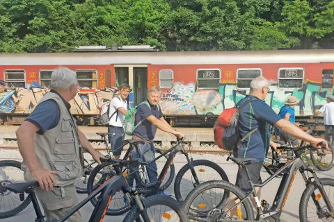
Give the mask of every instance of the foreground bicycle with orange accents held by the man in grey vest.
[[[136, 141], [132, 140], [132, 142]], [[150, 198], [145, 198], [143, 200], [141, 198], [140, 191], [137, 191], [136, 188], [129, 187], [126, 178], [122, 175], [122, 167], [128, 167], [129, 164], [146, 164], [145, 162], [141, 162], [141, 160], [138, 159], [131, 160], [131, 158], [130, 160], [112, 160], [108, 155], [106, 156], [106, 160], [100, 160], [102, 162], [113, 162], [113, 168], [115, 169], [116, 175], [106, 180], [103, 185], [98, 187], [92, 194], [82, 200], [78, 205], [76, 205], [72, 210], [70, 210], [70, 212], [68, 212], [65, 216], [63, 216], [62, 219], [58, 220], [57, 222], [63, 222], [69, 219], [70, 216], [77, 212], [81, 207], [86, 205], [86, 203], [88, 203], [92, 198], [95, 198], [98, 194], [100, 194], [100, 196], [98, 197], [97, 205], [95, 205], [89, 221], [103, 221], [106, 214], [106, 207], [108, 207], [108, 205], [111, 203], [111, 198], [115, 195], [116, 191], [120, 189], [122, 189], [122, 191], [125, 193], [127, 200], [129, 201], [129, 203], [131, 203], [132, 206], [129, 214], [125, 216], [125, 219], [123, 220], [124, 222], [141, 221], [139, 216], [143, 218], [143, 221], [150, 221], [148, 208], [154, 207], [156, 205], [165, 206], [165, 210], [163, 211], [164, 213], [160, 216], [161, 218], [171, 219], [172, 216], [175, 216], [175, 214], [170, 214], [170, 212], [166, 211], [166, 207], [169, 207], [171, 210], [176, 212], [177, 216], [180, 218], [180, 222], [188, 221], [186, 214], [182, 209], [182, 205], [180, 203], [177, 203], [177, 200], [161, 195], [150, 196]], [[37, 181], [16, 183], [5, 186], [6, 189], [15, 192], [15, 194], [24, 192], [31, 195], [33, 208], [37, 216], [35, 222], [47, 222], [44, 219], [45, 216], [42, 215], [40, 206], [38, 205], [38, 199], [35, 195], [34, 189], [38, 187], [39, 184]]]

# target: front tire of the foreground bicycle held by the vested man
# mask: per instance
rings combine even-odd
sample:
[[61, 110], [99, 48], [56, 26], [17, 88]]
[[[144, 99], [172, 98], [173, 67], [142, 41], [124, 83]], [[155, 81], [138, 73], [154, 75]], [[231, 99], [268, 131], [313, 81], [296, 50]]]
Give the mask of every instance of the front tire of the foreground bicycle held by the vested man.
[[[170, 198], [168, 196], [162, 196], [162, 195], [154, 195], [149, 196], [148, 198], [145, 198], [143, 200], [143, 205], [145, 208], [152, 207], [154, 205], [166, 205], [170, 207], [171, 209], [175, 210], [177, 215], [180, 217], [180, 222], [189, 222], [188, 216], [186, 215], [186, 212], [184, 212], [181, 203], [177, 202], [177, 200]], [[134, 207], [131, 208], [129, 213], [127, 213], [127, 216], [125, 216], [125, 219], [123, 222], [133, 222], [133, 221], [139, 221], [138, 216], [141, 213], [141, 210], [139, 209], [138, 205], [134, 205]]]

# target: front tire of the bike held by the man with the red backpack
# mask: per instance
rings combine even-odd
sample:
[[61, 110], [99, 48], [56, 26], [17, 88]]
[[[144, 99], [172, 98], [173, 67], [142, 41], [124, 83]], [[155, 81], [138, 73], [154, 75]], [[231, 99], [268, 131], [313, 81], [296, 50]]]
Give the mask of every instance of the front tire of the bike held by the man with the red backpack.
[[[334, 187], [334, 180], [331, 178], [319, 178], [319, 180], [323, 186], [329, 185], [331, 187]], [[308, 222], [308, 202], [311, 195], [315, 192], [315, 189], [317, 189], [317, 185], [315, 184], [315, 182], [312, 182], [303, 191], [303, 195], [301, 196], [301, 202], [299, 203], [299, 220], [301, 222]], [[328, 198], [331, 198], [331, 196], [328, 195]], [[334, 203], [331, 204], [334, 207]]]

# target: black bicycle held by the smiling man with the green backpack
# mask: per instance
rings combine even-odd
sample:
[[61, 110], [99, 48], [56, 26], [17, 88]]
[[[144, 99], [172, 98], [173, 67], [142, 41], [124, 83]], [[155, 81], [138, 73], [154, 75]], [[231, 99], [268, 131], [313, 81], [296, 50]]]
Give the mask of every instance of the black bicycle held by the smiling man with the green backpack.
[[[189, 154], [185, 151], [183, 144], [184, 141], [182, 139], [177, 139], [175, 146], [168, 149], [168, 151], [161, 153], [158, 157], [152, 160], [152, 162], [155, 162], [159, 160], [159, 158], [169, 153], [164, 167], [162, 168], [161, 172], [158, 173], [159, 176], [157, 182], [150, 183], [145, 166], [141, 166], [141, 171], [136, 171], [134, 175], [136, 182], [135, 186], [141, 188], [141, 193], [149, 196], [150, 194], [154, 194], [154, 192], [156, 192], [157, 187], [159, 187], [158, 191], [164, 191], [167, 188], [164, 186], [164, 180], [166, 178], [169, 167], [173, 165], [173, 159], [175, 155], [179, 152], [186, 157], [188, 162], [184, 167], [182, 167], [182, 169], [180, 169], [179, 173], [177, 173], [174, 183], [175, 197], [181, 203], [183, 202], [183, 198], [189, 194], [191, 189], [198, 186], [202, 182], [212, 180], [213, 178], [217, 178], [217, 176], [218, 178], [221, 178], [221, 180], [229, 181], [225, 171], [223, 171], [223, 169], [221, 169], [218, 164], [215, 164], [209, 160], [193, 160], [192, 157], [189, 158]], [[132, 145], [132, 148], [138, 149], [137, 144]], [[129, 155], [129, 153], [132, 151], [132, 148], [128, 149], [125, 156]], [[189, 173], [187, 173], [188, 171]], [[213, 173], [211, 171], [213, 171]], [[124, 176], [129, 175], [129, 169], [123, 169], [122, 172], [124, 173]], [[143, 173], [143, 175], [141, 175], [141, 173]], [[104, 180], [111, 178], [114, 176], [114, 174], [113, 162], [106, 162], [95, 167], [88, 178], [88, 194], [92, 194], [96, 187], [99, 187], [101, 184], [103, 184]], [[186, 176], [189, 176], [189, 174], [190, 177], [186, 178]], [[170, 178], [172, 178], [172, 176], [170, 176]], [[122, 190], [119, 190], [118, 193], [116, 193], [116, 199], [118, 200], [109, 205], [106, 211], [107, 215], [120, 215], [129, 210], [129, 203], [125, 201]], [[93, 205], [96, 205], [97, 199], [92, 198], [91, 202]]]

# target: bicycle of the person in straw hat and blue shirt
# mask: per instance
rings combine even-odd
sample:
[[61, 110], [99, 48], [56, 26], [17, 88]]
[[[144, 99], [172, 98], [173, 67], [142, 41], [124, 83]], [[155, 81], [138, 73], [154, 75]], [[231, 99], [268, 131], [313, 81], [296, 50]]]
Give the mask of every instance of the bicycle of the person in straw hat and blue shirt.
[[[321, 126], [323, 123], [301, 123], [301, 127], [308, 127], [308, 130], [306, 133], [312, 136], [317, 136], [318, 135], [318, 130], [317, 126]], [[288, 146], [290, 148], [293, 148], [292, 142], [288, 139], [287, 144], [285, 142], [277, 139], [273, 139], [273, 142], [276, 144], [279, 144], [280, 146]], [[305, 141], [302, 141], [299, 146], [305, 146]], [[334, 147], [331, 146], [331, 154], [333, 155], [334, 153]], [[328, 171], [333, 167], [333, 162], [331, 164], [328, 164], [326, 162], [322, 162], [323, 160], [326, 161], [326, 158], [328, 158], [329, 155], [326, 155], [326, 152], [324, 151], [315, 151], [315, 152], [310, 152], [306, 153], [304, 155], [304, 159], [309, 161], [308, 155], [310, 155], [310, 160], [312, 164], [319, 169], [319, 171]], [[316, 156], [318, 155], [318, 157]], [[264, 161], [262, 163], [262, 167], [269, 173], [269, 175], [273, 175], [275, 171], [283, 167], [289, 160], [292, 160], [294, 158], [294, 152], [292, 151], [287, 151], [286, 155], [280, 155], [277, 153], [273, 148], [271, 148], [271, 157], [266, 157], [264, 158]], [[279, 173], [277, 177], [282, 177], [283, 173]]]

